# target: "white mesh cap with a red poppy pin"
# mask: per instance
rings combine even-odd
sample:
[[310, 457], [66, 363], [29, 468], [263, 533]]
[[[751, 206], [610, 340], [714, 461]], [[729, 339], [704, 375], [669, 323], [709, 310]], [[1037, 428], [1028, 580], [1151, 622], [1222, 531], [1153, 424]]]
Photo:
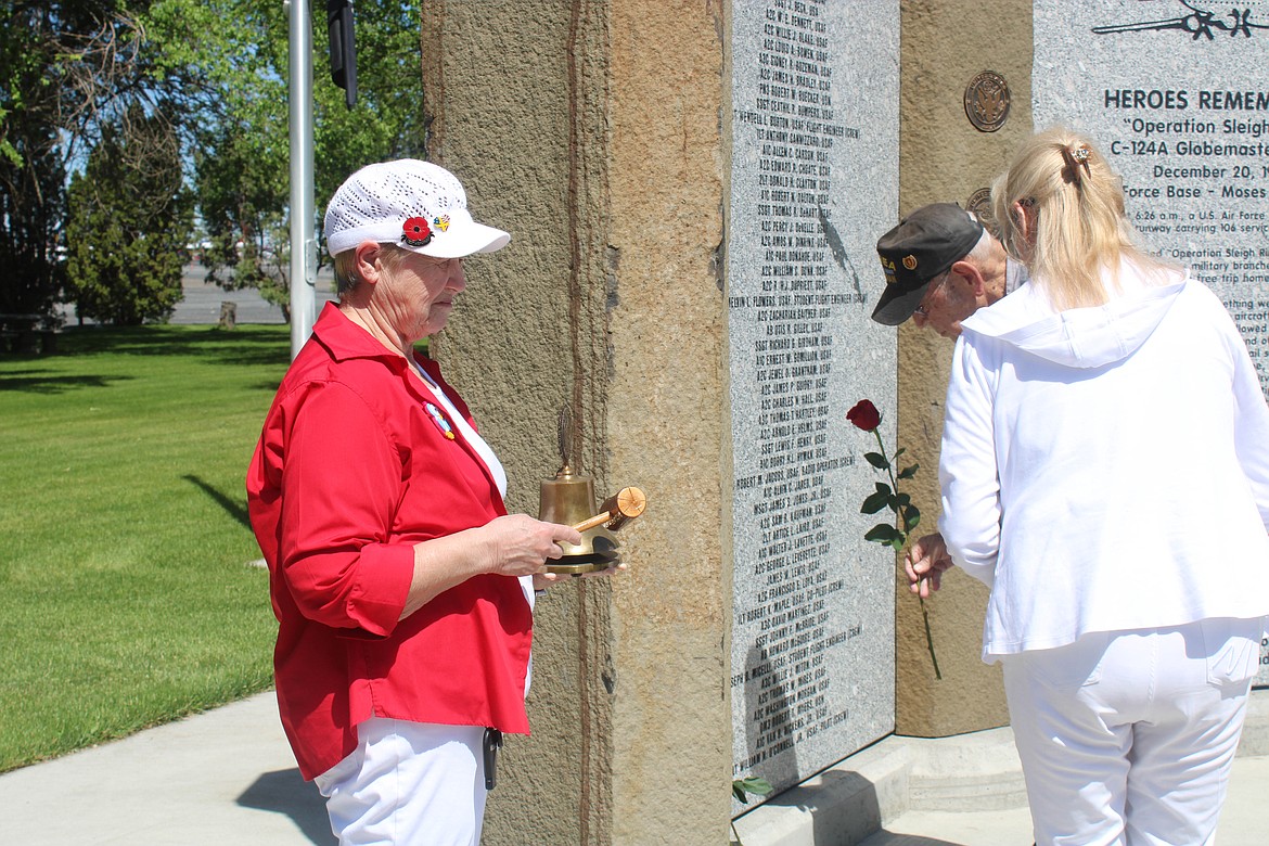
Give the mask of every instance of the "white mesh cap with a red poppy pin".
[[461, 259], [492, 252], [511, 236], [477, 223], [462, 184], [444, 167], [416, 159], [367, 165], [339, 186], [326, 207], [326, 251], [335, 256], [362, 241]]

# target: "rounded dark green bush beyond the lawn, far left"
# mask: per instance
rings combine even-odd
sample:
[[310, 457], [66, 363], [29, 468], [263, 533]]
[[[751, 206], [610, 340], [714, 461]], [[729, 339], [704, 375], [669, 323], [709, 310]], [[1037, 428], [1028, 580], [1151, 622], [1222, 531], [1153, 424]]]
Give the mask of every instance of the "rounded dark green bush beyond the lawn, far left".
[[67, 277], [80, 317], [166, 321], [180, 302], [193, 202], [173, 126], [136, 112], [105, 127], [71, 179]]

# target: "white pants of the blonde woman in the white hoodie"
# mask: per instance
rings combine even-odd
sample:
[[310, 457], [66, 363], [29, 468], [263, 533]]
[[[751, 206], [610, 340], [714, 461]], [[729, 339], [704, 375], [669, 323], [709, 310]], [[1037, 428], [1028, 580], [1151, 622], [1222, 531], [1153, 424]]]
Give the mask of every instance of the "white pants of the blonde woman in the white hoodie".
[[1213, 843], [1263, 632], [1212, 619], [1004, 656], [1038, 846]]

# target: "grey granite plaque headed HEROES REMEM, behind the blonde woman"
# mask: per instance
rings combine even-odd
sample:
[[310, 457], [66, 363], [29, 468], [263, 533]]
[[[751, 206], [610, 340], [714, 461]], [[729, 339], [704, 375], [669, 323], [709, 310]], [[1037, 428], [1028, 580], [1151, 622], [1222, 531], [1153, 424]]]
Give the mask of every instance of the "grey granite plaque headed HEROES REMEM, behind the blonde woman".
[[1137, 230], [1225, 301], [1269, 387], [1269, 1], [1037, 0], [1034, 43], [1036, 127], [1093, 136]]

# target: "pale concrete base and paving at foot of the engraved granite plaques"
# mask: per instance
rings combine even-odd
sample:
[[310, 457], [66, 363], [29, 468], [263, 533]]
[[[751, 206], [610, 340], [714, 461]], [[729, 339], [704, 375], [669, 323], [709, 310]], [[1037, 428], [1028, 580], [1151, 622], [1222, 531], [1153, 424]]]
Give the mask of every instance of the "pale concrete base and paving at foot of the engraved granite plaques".
[[[1242, 842], [1231, 831], [1241, 819], [1236, 805], [1244, 794], [1259, 795], [1263, 774], [1269, 774], [1269, 689], [1251, 694], [1222, 842]], [[901, 817], [929, 831], [897, 833], [911, 828], [902, 821], [892, 826]], [[914, 823], [915, 817], [921, 821]], [[1027, 791], [1008, 727], [944, 738], [890, 736], [739, 817], [735, 827], [744, 846], [1030, 842]]]

